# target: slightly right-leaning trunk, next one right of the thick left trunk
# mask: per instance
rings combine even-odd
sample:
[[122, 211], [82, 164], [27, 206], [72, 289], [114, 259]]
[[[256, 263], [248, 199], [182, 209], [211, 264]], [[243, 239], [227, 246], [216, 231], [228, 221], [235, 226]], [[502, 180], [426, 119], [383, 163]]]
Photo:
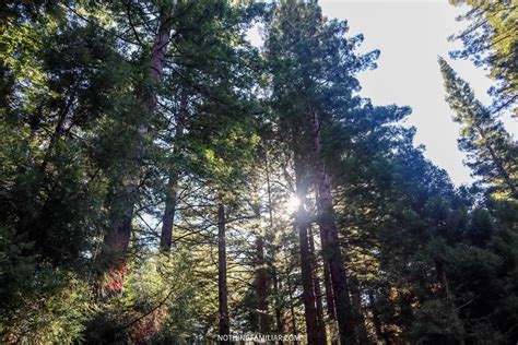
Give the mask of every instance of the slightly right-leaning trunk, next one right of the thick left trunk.
[[[173, 146], [174, 157], [177, 157], [181, 153], [181, 139], [184, 136], [185, 119], [187, 115], [187, 91], [183, 90], [178, 114], [176, 115], [176, 133]], [[160, 237], [160, 248], [164, 253], [170, 251], [170, 246], [173, 243], [173, 226], [175, 223], [178, 176], [179, 170], [176, 165], [173, 164], [169, 170], [169, 180], [167, 182], [165, 211], [162, 217], [162, 233]]]

